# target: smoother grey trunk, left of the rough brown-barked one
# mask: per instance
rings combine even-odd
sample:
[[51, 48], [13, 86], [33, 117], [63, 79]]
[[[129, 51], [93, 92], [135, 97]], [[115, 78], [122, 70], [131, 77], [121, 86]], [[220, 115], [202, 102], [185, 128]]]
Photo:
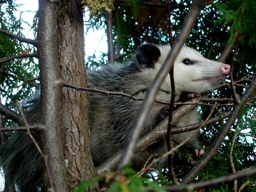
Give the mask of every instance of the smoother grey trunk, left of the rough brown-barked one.
[[[60, 1], [39, 1], [38, 59], [41, 80], [42, 134], [44, 153], [51, 170], [51, 182], [56, 191], [68, 191], [61, 141], [60, 107], [61, 86], [58, 62], [58, 4]], [[47, 178], [47, 177], [45, 177]], [[46, 188], [48, 182], [45, 179]]]

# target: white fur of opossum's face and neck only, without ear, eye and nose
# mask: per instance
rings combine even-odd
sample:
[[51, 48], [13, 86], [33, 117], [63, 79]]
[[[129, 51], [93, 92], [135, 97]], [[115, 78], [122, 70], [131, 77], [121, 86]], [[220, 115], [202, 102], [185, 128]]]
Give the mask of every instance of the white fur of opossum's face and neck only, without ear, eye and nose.
[[[154, 79], [157, 71], [163, 65], [168, 53], [170, 52], [170, 45], [159, 45], [158, 48], [161, 51], [161, 56], [157, 61], [154, 70], [152, 68], [146, 68], [143, 73], [143, 78]], [[185, 65], [182, 63], [184, 59], [194, 61], [193, 65]], [[229, 71], [229, 65], [212, 61], [204, 58], [200, 52], [195, 51], [191, 47], [182, 47], [179, 55], [174, 63], [174, 81], [175, 92], [178, 97], [182, 92], [190, 93], [205, 93], [213, 90], [218, 83], [220, 83], [227, 74], [221, 72], [221, 67], [227, 67]], [[167, 76], [162, 86], [163, 90], [170, 90], [170, 77]], [[168, 97], [162, 97], [163, 100], [169, 100]]]

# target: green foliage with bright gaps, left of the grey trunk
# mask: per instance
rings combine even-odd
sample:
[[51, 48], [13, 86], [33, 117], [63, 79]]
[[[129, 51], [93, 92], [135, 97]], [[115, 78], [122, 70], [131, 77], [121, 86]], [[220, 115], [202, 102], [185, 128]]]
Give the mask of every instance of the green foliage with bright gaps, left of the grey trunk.
[[[19, 4], [15, 1], [1, 1], [0, 26], [1, 29], [24, 37], [22, 25], [33, 27], [33, 24], [22, 20], [20, 17], [22, 12], [19, 17], [15, 16], [14, 12], [18, 12], [17, 8]], [[35, 47], [0, 33], [0, 58], [32, 53], [36, 53]], [[8, 63], [0, 63], [1, 99], [6, 100], [6, 106], [13, 106], [15, 100], [24, 99], [31, 94], [31, 88], [38, 83], [36, 79], [39, 72], [35, 62], [35, 58], [20, 58]]]

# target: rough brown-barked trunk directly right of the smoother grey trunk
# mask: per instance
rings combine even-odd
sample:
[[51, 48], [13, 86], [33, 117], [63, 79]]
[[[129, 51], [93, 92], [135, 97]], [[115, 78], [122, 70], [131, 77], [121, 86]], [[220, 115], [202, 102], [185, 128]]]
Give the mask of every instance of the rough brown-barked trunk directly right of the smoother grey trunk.
[[[58, 15], [58, 55], [65, 82], [86, 86], [83, 12], [79, 1], [67, 1]], [[68, 188], [92, 179], [95, 170], [90, 154], [87, 93], [62, 90], [61, 127], [68, 162]]]

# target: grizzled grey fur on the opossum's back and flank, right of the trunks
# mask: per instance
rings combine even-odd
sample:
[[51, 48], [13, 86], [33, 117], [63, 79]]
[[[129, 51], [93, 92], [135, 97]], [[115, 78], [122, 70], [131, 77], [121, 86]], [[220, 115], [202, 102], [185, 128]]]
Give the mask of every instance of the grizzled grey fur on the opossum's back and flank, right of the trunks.
[[[110, 66], [88, 72], [88, 86], [109, 92], [135, 93], [140, 69], [136, 66]], [[100, 164], [124, 147], [141, 101], [122, 95], [88, 93], [92, 156]]]

